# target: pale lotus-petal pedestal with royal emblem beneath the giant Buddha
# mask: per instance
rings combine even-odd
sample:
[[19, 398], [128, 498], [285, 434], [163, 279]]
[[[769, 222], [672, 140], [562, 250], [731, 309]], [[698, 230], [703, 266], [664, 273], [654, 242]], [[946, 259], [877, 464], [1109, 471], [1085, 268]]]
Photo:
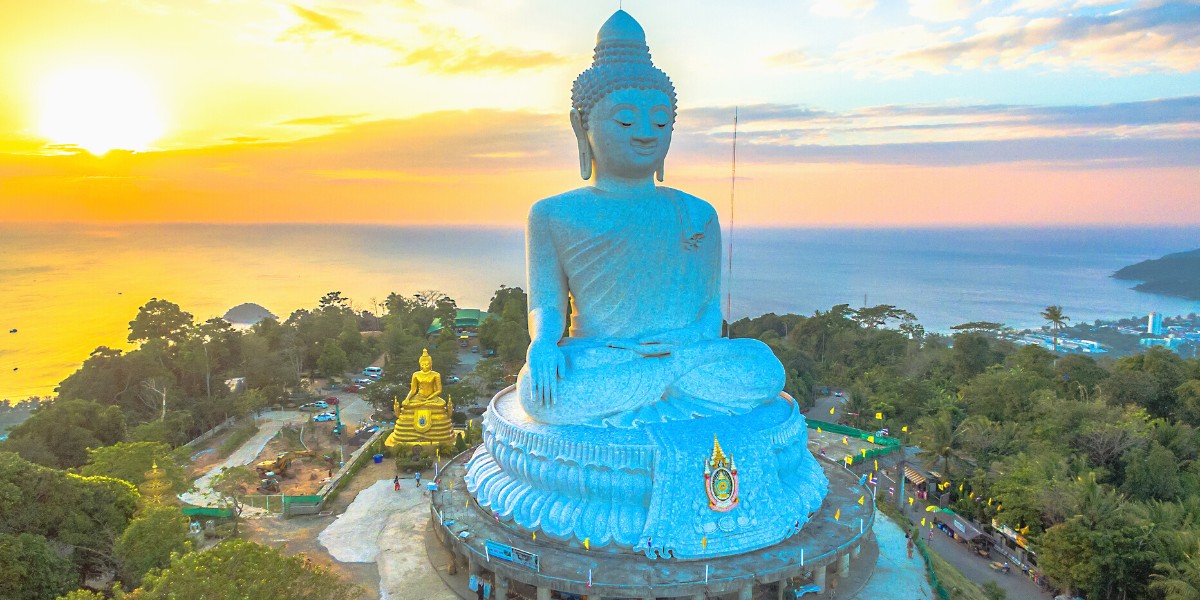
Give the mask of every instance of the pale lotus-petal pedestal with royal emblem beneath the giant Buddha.
[[733, 556], [796, 535], [826, 493], [786, 394], [739, 415], [635, 427], [546, 425], [516, 396], [492, 400], [464, 479], [530, 535], [648, 558]]

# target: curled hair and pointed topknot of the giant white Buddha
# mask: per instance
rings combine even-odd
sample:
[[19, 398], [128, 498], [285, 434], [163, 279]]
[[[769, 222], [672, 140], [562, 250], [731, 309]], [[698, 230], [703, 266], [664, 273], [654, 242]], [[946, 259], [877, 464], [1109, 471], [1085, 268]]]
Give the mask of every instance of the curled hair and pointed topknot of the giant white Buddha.
[[628, 12], [617, 11], [596, 34], [592, 66], [571, 85], [571, 107], [580, 112], [583, 128], [588, 127], [588, 115], [601, 98], [629, 88], [666, 94], [671, 98], [671, 127], [674, 128], [674, 85], [650, 60], [642, 25]]

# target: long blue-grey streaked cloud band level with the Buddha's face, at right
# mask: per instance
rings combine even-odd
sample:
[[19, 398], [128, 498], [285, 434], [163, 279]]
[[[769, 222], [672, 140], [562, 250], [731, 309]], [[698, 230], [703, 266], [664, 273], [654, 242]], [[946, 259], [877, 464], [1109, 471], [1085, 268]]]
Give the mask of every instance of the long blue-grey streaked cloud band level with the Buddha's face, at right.
[[[718, 156], [730, 108], [684, 113], [691, 160]], [[721, 119], [720, 116], [725, 116]], [[881, 106], [845, 113], [761, 104], [740, 110], [739, 160], [922, 166], [1200, 166], [1200, 96], [1100, 106]], [[701, 130], [701, 131], [696, 131]], [[744, 157], [744, 158], [743, 158]]]

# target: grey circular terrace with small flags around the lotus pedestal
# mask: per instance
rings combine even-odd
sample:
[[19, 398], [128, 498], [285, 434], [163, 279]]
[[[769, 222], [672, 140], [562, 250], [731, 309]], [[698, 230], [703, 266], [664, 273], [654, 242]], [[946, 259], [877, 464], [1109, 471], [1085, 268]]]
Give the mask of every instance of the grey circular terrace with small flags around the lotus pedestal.
[[499, 600], [510, 589], [522, 589], [527, 596], [535, 593], [540, 600], [550, 599], [551, 592], [592, 599], [750, 599], [762, 588], [780, 594], [782, 588], [804, 582], [823, 588], [830, 565], [841, 576], [848, 574], [850, 559], [858, 556], [874, 524], [871, 491], [841, 466], [822, 462], [829, 481], [824, 503], [799, 533], [779, 544], [696, 560], [588, 551], [545, 535], [535, 538], [480, 506], [463, 479], [474, 452], [458, 455], [442, 470], [431, 518], [434, 534], [457, 565], [473, 575], [494, 577]]

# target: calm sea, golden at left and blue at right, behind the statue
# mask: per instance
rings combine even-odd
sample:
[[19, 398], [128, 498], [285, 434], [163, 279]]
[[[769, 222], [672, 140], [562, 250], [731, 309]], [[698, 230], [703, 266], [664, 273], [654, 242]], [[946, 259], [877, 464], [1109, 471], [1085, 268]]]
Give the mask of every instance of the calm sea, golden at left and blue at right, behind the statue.
[[[745, 229], [733, 242], [734, 319], [864, 301], [911, 311], [929, 331], [1039, 326], [1052, 304], [1072, 323], [1200, 312], [1109, 277], [1200, 247], [1195, 227]], [[284, 319], [334, 290], [358, 310], [425, 289], [486, 308], [500, 284], [524, 287], [520, 229], [0, 224], [0, 398], [50, 394], [98, 346], [130, 349], [128, 322], [151, 298], [196, 320], [241, 302]]]

